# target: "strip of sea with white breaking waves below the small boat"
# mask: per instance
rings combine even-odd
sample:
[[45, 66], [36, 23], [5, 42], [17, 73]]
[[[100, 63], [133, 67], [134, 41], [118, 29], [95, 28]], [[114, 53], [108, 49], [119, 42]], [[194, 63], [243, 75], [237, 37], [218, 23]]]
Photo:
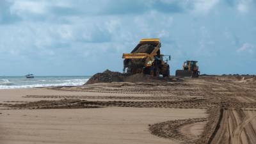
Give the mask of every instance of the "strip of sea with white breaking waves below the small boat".
[[81, 86], [90, 76], [0, 76], [0, 89], [34, 88], [44, 86]]

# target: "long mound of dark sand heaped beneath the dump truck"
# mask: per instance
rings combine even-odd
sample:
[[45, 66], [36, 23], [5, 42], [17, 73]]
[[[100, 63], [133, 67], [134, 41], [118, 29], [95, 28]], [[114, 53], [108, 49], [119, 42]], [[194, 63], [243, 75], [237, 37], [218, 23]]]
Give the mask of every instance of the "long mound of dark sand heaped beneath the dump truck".
[[134, 74], [127, 75], [120, 72], [111, 72], [110, 70], [105, 70], [102, 73], [97, 73], [93, 75], [85, 84], [93, 83], [111, 83], [111, 82], [143, 82], [143, 83], [159, 83], [174, 81], [170, 77], [154, 77], [147, 74]]

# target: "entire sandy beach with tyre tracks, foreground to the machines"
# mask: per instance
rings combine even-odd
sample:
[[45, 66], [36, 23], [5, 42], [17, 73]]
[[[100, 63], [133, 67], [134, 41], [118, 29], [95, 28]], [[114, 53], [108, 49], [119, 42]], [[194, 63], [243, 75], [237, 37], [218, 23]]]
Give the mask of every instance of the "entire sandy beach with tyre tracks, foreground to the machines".
[[212, 76], [0, 90], [0, 143], [252, 143], [254, 83]]

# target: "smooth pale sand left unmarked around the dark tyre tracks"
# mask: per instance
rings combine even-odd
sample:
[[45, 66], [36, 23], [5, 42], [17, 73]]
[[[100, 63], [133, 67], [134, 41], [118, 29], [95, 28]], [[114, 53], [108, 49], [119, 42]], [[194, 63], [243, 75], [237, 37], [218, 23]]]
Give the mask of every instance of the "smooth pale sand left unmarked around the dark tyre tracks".
[[[1, 104], [52, 100], [26, 95], [109, 95], [46, 88], [0, 90]], [[122, 93], [119, 93], [120, 96]], [[143, 95], [142, 95], [143, 96]], [[54, 100], [58, 98], [54, 98]], [[3, 107], [2, 107], [3, 108]], [[205, 117], [204, 109], [89, 108], [6, 109], [0, 115], [0, 143], [179, 143], [150, 134], [148, 125]], [[201, 129], [202, 129], [201, 125]]]

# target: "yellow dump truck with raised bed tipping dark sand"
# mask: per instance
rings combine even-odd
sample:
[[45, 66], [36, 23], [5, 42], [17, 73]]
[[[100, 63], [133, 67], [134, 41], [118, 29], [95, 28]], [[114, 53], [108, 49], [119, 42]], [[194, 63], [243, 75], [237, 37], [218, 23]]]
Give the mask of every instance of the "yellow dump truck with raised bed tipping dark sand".
[[160, 47], [159, 38], [141, 39], [131, 53], [123, 54], [124, 73], [169, 77], [168, 60], [171, 59], [171, 56], [161, 54]]

